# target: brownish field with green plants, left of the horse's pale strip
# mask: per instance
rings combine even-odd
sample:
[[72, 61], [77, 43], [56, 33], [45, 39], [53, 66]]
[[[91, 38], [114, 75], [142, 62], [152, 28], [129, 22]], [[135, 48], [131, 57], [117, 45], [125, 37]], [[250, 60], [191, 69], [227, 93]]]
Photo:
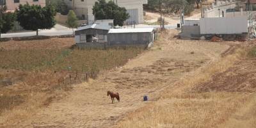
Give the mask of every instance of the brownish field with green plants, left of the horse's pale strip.
[[0, 42], [1, 123], [26, 118], [65, 97], [70, 85], [81, 82], [86, 72], [120, 67], [143, 51], [70, 49], [72, 45], [74, 38]]

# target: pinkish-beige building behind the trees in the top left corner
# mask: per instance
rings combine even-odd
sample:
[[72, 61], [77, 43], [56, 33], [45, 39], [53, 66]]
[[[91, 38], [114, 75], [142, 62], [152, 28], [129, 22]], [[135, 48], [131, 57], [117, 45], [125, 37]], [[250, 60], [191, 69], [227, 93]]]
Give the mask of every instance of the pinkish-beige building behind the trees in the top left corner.
[[26, 3], [45, 6], [45, 0], [0, 0], [0, 3], [5, 4], [8, 11], [14, 11], [20, 4]]

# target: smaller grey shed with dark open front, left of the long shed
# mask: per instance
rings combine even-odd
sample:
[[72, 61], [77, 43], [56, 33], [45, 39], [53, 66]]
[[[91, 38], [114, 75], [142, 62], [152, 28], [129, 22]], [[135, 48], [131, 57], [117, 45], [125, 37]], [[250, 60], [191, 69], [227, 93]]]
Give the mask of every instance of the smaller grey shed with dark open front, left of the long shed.
[[76, 44], [89, 42], [108, 42], [108, 31], [111, 26], [92, 24], [77, 28], [75, 32]]

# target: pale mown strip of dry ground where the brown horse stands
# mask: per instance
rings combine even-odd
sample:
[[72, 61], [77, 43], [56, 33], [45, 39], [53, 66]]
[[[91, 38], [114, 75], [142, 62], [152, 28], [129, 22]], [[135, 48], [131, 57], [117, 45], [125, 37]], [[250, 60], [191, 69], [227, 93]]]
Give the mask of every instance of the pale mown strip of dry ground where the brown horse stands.
[[[224, 44], [176, 40], [171, 38], [173, 33], [177, 34], [165, 35], [124, 67], [105, 72], [90, 83], [74, 85], [67, 98], [54, 100], [31, 118], [3, 127], [112, 127], [127, 113], [147, 104], [143, 95], [157, 99], [159, 90], [220, 58], [228, 49]], [[111, 104], [108, 90], [120, 93], [119, 103]]]

